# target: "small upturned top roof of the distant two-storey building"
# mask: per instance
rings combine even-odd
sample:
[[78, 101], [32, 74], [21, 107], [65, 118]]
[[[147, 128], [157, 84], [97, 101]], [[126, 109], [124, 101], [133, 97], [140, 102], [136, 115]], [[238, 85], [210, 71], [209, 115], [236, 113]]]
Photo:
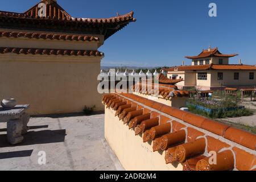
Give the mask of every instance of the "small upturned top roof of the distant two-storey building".
[[238, 54], [231, 54], [231, 55], [224, 55], [220, 51], [218, 51], [218, 48], [209, 48], [203, 50], [198, 56], [185, 56], [187, 59], [200, 59], [205, 57], [234, 57]]

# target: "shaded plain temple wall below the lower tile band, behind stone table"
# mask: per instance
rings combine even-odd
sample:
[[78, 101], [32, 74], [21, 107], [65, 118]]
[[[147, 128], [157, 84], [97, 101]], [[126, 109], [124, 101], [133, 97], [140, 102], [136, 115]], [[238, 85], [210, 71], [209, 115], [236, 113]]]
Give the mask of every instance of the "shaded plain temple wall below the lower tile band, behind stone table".
[[81, 112], [96, 105], [104, 110], [97, 92], [100, 57], [0, 55], [0, 100], [16, 98], [31, 104], [29, 114]]

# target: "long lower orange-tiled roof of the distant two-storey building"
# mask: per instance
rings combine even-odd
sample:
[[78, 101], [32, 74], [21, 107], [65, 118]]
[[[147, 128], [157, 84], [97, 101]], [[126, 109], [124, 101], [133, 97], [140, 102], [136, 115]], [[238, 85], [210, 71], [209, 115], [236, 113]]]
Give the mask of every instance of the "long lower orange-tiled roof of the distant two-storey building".
[[167, 72], [175, 71], [197, 71], [197, 70], [256, 70], [254, 65], [243, 65], [243, 64], [207, 64], [207, 65], [194, 65], [194, 66], [180, 66], [163, 69]]

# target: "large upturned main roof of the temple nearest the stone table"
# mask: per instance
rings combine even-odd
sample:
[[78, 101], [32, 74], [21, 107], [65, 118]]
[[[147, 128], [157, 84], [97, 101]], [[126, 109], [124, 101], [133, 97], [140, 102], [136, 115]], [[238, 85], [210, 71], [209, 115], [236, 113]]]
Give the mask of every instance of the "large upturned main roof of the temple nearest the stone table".
[[[46, 16], [40, 16], [40, 3], [46, 4]], [[74, 18], [54, 0], [42, 0], [24, 13], [0, 11], [0, 28], [34, 31], [72, 32], [104, 35], [105, 40], [135, 22], [133, 11], [112, 18]]]

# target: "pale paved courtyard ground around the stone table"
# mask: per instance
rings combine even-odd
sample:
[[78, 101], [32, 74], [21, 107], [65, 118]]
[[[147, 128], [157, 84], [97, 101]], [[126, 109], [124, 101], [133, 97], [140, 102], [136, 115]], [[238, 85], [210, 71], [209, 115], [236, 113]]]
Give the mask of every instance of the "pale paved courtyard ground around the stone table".
[[0, 123], [0, 170], [123, 170], [104, 139], [104, 114], [31, 118], [28, 126], [23, 143], [11, 146]]

